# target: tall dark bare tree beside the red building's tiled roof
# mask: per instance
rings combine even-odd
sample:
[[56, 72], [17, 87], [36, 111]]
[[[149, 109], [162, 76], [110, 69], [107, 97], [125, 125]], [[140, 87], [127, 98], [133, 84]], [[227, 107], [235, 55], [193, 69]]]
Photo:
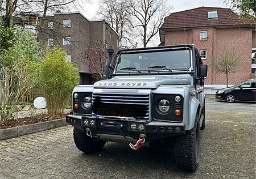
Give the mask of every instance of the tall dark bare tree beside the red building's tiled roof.
[[167, 0], [129, 0], [131, 15], [134, 16], [134, 28], [142, 37], [143, 46], [158, 33], [164, 18], [170, 13]]

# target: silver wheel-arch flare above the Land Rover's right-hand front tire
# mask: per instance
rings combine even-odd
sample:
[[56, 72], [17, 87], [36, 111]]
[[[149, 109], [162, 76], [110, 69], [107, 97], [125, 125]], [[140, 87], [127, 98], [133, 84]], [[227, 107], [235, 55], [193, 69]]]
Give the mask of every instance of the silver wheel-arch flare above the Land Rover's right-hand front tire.
[[189, 110], [189, 120], [188, 120], [188, 130], [191, 130], [194, 127], [196, 120], [197, 109], [200, 106], [199, 100], [194, 96], [190, 101], [190, 110]]

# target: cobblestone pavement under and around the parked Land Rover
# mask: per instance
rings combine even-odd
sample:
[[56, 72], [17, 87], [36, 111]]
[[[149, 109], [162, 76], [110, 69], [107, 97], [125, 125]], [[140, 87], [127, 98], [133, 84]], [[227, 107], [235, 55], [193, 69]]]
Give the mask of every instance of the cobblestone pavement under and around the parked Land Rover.
[[177, 168], [171, 148], [132, 151], [109, 142], [85, 155], [73, 143], [73, 127], [65, 126], [1, 141], [0, 178], [255, 178], [255, 120], [222, 121], [208, 114], [195, 173]]

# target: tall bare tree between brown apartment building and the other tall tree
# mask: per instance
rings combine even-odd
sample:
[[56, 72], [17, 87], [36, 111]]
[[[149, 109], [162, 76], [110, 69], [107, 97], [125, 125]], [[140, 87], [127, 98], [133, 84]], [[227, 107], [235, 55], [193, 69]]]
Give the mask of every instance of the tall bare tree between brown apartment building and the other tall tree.
[[120, 36], [120, 48], [130, 46], [133, 27], [129, 3], [125, 0], [100, 0], [98, 6], [98, 14], [101, 14]]

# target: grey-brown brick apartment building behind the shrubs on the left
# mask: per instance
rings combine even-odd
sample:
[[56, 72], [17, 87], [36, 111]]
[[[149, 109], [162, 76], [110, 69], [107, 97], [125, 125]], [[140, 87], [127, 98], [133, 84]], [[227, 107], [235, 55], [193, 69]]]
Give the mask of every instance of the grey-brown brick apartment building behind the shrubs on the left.
[[81, 53], [85, 49], [95, 42], [113, 45], [115, 50], [119, 48], [117, 32], [104, 19], [88, 20], [80, 12], [47, 16], [43, 28], [43, 32], [39, 33], [39, 42], [49, 46], [58, 45], [64, 49], [68, 54], [68, 61], [79, 66], [81, 84], [93, 81], [92, 70], [81, 60]]

